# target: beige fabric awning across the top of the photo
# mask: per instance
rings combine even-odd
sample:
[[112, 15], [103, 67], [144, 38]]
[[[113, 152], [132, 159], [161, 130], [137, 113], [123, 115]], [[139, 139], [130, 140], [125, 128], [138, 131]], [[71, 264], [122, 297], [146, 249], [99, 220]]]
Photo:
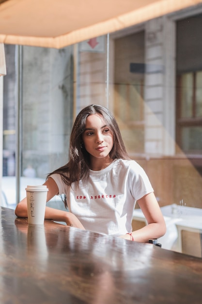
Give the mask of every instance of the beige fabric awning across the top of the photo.
[[0, 0], [0, 42], [60, 49], [201, 2]]

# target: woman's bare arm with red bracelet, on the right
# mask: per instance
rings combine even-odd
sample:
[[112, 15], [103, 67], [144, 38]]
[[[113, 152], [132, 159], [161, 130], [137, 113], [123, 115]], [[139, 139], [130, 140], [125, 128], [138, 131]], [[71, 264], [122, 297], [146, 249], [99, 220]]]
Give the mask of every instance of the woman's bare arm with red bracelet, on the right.
[[139, 230], [133, 231], [132, 235], [120, 236], [125, 239], [147, 243], [149, 239], [159, 238], [166, 233], [166, 223], [161, 213], [159, 204], [153, 192], [146, 194], [138, 204], [147, 220], [147, 225]]

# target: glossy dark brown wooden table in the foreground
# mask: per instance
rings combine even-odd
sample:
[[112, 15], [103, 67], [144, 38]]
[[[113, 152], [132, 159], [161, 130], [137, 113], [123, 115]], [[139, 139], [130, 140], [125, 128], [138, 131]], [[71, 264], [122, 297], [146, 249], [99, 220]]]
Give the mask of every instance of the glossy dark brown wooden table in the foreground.
[[0, 304], [199, 304], [202, 259], [0, 208]]

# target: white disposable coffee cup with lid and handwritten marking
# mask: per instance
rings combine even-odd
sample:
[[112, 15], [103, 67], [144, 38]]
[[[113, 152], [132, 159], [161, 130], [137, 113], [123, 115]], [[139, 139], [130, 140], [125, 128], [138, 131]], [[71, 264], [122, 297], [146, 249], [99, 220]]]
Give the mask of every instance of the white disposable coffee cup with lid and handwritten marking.
[[48, 188], [42, 186], [27, 186], [28, 224], [43, 225], [47, 203]]

